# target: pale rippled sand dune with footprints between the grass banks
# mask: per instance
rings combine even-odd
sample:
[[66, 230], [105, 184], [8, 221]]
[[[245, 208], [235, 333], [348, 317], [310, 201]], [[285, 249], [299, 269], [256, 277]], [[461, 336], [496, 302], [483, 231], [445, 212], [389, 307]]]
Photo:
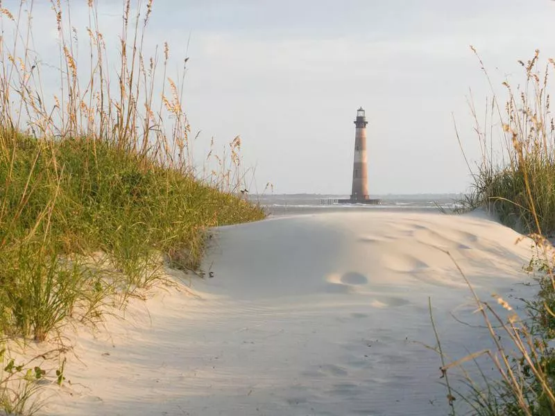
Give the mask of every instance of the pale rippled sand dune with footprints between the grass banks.
[[110, 336], [71, 335], [71, 385], [44, 413], [443, 415], [428, 297], [450, 354], [489, 345], [450, 315], [479, 322], [445, 251], [481, 295], [522, 293], [519, 236], [484, 215], [379, 211], [221, 227], [212, 278], [133, 302]]

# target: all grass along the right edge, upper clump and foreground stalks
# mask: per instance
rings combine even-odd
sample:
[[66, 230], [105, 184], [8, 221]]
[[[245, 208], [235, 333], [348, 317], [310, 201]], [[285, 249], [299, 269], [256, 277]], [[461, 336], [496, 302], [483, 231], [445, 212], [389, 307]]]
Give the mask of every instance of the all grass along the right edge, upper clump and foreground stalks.
[[[518, 62], [524, 69], [524, 83], [515, 89], [505, 81], [505, 105], [494, 96], [490, 125], [480, 128], [477, 123], [483, 157], [470, 202], [528, 233], [535, 254], [526, 270], [538, 282], [538, 293], [524, 300], [519, 313], [495, 295], [504, 308], [499, 313], [477, 296], [459, 268], [493, 347], [442, 365], [442, 372], [463, 367], [461, 363], [481, 355], [489, 358], [499, 375], [490, 379], [482, 374], [484, 383], [467, 376], [470, 392], [461, 398], [470, 404], [472, 415], [555, 415], [555, 250], [546, 238], [555, 232], [555, 123], [549, 95], [549, 71], [555, 63], [549, 59], [541, 64], [538, 51], [531, 60]], [[479, 63], [493, 85], [480, 58]], [[500, 153], [493, 150], [493, 132], [502, 137]]]

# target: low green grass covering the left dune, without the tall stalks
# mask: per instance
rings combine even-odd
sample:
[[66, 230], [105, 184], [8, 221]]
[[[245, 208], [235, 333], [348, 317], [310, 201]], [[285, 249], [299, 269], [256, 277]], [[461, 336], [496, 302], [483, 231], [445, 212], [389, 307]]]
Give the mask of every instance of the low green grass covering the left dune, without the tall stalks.
[[[126, 292], [148, 285], [160, 253], [173, 266], [197, 268], [207, 227], [263, 218], [237, 196], [105, 142], [7, 141], [12, 161], [0, 163], [3, 333], [44, 340], [76, 304], [94, 309], [108, 285]], [[83, 264], [99, 251], [121, 272], [118, 281]]]

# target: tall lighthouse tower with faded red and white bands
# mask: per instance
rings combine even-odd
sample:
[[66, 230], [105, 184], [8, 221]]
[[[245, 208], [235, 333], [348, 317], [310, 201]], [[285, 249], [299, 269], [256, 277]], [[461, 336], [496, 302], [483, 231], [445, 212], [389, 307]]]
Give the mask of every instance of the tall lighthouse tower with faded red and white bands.
[[362, 107], [357, 110], [355, 125], [355, 162], [352, 166], [352, 201], [368, 200], [368, 159], [366, 158], [366, 115]]

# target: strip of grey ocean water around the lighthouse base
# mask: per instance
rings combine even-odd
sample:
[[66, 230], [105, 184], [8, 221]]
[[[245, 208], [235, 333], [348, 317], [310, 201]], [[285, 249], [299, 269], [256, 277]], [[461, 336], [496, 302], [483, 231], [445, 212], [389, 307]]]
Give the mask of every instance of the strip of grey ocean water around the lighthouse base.
[[449, 212], [458, 207], [462, 194], [456, 193], [420, 193], [415, 195], [373, 195], [382, 200], [380, 205], [337, 204], [333, 200], [349, 198], [345, 195], [323, 194], [282, 194], [257, 196], [257, 200], [270, 216], [314, 214], [317, 212], [335, 212], [348, 210], [388, 210], [388, 211], [422, 211], [430, 213]]

